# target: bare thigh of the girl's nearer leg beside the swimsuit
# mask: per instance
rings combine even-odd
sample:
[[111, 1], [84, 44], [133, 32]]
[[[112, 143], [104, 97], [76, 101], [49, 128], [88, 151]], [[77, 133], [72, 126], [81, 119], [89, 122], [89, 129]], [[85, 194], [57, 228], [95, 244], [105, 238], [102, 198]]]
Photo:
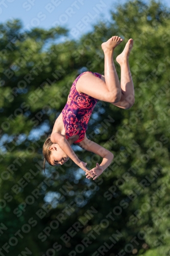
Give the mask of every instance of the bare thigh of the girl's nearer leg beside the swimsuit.
[[77, 81], [76, 90], [95, 99], [113, 102], [113, 95], [107, 89], [104, 76], [99, 78], [92, 73], [85, 73]]

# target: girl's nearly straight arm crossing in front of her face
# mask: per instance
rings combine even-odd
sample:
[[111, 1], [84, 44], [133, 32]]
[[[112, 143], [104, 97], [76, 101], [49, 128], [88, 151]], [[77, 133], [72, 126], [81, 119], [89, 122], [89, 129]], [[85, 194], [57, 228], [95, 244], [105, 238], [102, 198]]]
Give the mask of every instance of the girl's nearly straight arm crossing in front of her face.
[[67, 154], [67, 156], [71, 158], [72, 161], [74, 161], [80, 168], [82, 168], [86, 173], [88, 173], [90, 177], [92, 177], [89, 170], [85, 167], [86, 164], [77, 157], [77, 155], [72, 150], [70, 144], [64, 136], [62, 136], [59, 133], [54, 133], [51, 135], [51, 141], [53, 143], [57, 143], [62, 149], [62, 151], [64, 151], [65, 154]]

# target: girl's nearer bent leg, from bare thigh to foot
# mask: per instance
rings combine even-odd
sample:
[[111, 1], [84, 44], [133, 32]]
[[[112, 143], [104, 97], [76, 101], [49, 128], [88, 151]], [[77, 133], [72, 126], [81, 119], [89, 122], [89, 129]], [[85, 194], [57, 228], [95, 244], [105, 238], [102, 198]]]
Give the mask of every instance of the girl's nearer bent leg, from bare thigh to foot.
[[105, 54], [105, 81], [95, 77], [92, 73], [86, 73], [79, 78], [76, 89], [79, 93], [106, 102], [118, 102], [122, 95], [119, 79], [113, 62], [113, 51], [122, 42], [118, 36], [112, 36], [102, 44]]

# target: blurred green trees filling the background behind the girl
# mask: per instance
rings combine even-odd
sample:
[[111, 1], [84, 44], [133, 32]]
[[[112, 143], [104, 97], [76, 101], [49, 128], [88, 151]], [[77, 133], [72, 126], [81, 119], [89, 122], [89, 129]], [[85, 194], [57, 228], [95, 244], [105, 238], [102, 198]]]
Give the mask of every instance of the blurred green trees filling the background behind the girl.
[[[111, 13], [112, 23], [60, 43], [62, 27], [1, 24], [1, 255], [170, 255], [169, 10], [133, 1]], [[114, 161], [95, 181], [71, 161], [44, 174], [42, 145], [71, 84], [84, 71], [104, 74], [101, 44], [113, 35], [124, 38], [114, 59], [134, 39], [135, 104], [98, 102], [87, 137]], [[102, 160], [72, 148], [89, 169]]]

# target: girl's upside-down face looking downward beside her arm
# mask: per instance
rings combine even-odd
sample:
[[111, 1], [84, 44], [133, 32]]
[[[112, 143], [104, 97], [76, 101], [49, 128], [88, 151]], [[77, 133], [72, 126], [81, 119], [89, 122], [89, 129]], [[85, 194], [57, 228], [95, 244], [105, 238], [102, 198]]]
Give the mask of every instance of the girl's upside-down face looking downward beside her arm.
[[64, 151], [61, 150], [58, 144], [53, 144], [51, 147], [49, 147], [49, 150], [52, 151], [50, 157], [50, 162], [52, 165], [62, 165], [68, 161], [69, 157], [64, 153]]

